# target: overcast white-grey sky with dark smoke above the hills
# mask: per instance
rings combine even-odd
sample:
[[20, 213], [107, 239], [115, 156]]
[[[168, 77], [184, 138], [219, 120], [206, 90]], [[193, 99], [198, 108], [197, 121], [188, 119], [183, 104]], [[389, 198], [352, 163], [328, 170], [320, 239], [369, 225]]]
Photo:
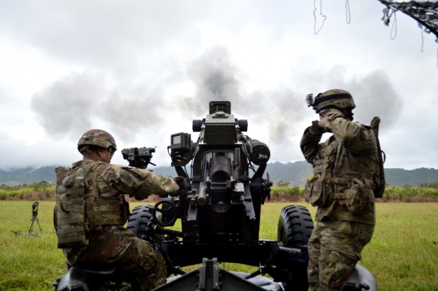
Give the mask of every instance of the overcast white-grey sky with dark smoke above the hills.
[[232, 102], [270, 162], [302, 161], [305, 96], [334, 88], [355, 120], [381, 117], [385, 167], [438, 168], [435, 36], [402, 12], [386, 27], [377, 0], [316, 2], [315, 21], [313, 1], [0, 0], [0, 169], [70, 165], [90, 128], [116, 138], [113, 163], [156, 146], [168, 166], [209, 100]]

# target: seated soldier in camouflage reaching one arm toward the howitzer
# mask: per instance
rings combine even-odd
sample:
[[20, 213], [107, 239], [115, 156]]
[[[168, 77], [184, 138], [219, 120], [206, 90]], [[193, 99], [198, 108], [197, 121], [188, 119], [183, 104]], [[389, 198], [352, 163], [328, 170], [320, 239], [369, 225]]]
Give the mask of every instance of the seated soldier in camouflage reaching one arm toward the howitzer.
[[135, 274], [142, 290], [166, 283], [161, 253], [123, 227], [129, 218], [125, 194], [140, 199], [176, 195], [177, 182], [146, 169], [111, 165], [116, 141], [104, 130], [84, 133], [78, 150], [83, 160], [56, 169], [54, 223], [67, 264], [113, 264]]

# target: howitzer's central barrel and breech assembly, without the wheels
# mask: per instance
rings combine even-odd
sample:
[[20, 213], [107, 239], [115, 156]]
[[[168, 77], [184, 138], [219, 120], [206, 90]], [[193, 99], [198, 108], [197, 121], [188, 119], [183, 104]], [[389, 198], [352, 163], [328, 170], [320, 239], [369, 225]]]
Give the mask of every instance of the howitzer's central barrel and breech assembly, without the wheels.
[[[170, 156], [177, 174], [190, 180], [183, 219], [186, 232], [202, 242], [242, 242], [259, 236], [260, 205], [270, 195], [263, 179], [270, 150], [243, 135], [248, 123], [231, 114], [229, 102], [210, 102], [210, 114], [194, 120], [196, 143], [188, 133], [171, 136]], [[192, 161], [191, 175], [183, 168]], [[250, 169], [259, 168], [250, 177]], [[253, 201], [254, 200], [254, 201]]]

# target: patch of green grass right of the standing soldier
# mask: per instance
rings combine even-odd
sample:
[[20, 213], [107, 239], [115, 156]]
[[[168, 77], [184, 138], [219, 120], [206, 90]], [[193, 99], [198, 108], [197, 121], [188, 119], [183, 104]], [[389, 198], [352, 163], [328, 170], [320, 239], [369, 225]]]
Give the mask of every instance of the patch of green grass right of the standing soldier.
[[438, 290], [438, 204], [377, 204], [363, 266], [381, 290]]

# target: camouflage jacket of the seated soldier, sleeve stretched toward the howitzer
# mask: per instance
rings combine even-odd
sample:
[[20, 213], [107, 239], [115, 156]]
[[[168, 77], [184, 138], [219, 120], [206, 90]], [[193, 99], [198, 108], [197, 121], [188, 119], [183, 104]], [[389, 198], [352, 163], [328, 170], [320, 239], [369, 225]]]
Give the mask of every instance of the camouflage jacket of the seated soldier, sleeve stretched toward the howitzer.
[[99, 225], [123, 226], [129, 218], [129, 204], [125, 194], [145, 199], [151, 194], [166, 195], [179, 191], [175, 180], [146, 169], [87, 159], [73, 163], [71, 169], [79, 167], [90, 169], [85, 178], [88, 186], [84, 193], [86, 230]]

